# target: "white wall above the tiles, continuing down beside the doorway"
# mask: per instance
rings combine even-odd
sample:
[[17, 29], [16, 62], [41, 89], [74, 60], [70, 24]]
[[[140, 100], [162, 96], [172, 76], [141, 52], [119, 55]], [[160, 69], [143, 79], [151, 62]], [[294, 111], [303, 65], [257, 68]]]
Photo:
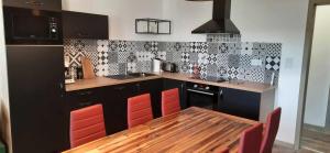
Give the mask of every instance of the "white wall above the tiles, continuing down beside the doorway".
[[[211, 2], [185, 0], [63, 0], [66, 10], [110, 15], [110, 39], [155, 41], [206, 41], [191, 30], [211, 19]], [[283, 43], [277, 105], [283, 118], [277, 139], [294, 143], [302, 64], [308, 0], [232, 0], [232, 20], [242, 41]], [[163, 18], [173, 21], [173, 34], [134, 34], [135, 18]]]

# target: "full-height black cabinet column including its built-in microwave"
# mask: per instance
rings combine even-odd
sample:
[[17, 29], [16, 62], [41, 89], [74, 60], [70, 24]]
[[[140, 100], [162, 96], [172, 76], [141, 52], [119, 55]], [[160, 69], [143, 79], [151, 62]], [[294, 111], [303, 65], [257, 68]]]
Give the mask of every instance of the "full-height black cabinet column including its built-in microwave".
[[[42, 2], [62, 6], [59, 0]], [[14, 153], [69, 149], [62, 13], [42, 9], [3, 7]]]

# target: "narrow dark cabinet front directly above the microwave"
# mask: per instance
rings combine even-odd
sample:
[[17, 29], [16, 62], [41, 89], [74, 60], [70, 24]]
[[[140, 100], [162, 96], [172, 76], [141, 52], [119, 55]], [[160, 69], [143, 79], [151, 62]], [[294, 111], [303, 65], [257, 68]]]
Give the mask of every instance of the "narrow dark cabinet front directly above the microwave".
[[61, 0], [3, 0], [6, 7], [62, 11]]

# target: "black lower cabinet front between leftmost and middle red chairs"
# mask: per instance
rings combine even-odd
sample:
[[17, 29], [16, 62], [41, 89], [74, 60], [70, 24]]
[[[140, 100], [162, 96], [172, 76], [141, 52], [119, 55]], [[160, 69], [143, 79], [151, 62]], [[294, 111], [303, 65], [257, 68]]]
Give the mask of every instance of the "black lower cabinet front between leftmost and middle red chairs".
[[108, 134], [128, 129], [128, 98], [136, 95], [134, 87], [132, 84], [125, 84], [102, 89]]

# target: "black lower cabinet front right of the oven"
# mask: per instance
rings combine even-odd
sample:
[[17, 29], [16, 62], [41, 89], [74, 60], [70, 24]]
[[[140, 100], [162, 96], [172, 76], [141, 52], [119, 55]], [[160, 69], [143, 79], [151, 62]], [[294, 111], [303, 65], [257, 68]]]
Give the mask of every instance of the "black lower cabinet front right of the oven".
[[220, 88], [219, 110], [224, 113], [258, 120], [261, 95], [257, 92]]

